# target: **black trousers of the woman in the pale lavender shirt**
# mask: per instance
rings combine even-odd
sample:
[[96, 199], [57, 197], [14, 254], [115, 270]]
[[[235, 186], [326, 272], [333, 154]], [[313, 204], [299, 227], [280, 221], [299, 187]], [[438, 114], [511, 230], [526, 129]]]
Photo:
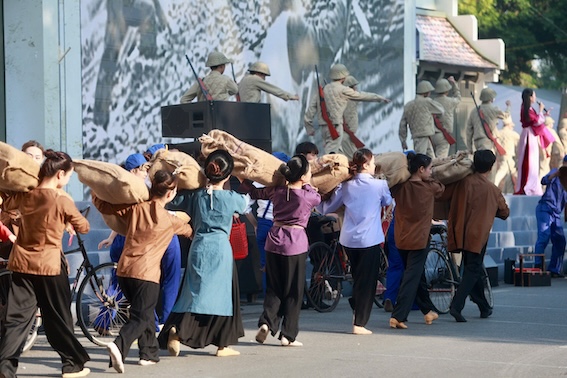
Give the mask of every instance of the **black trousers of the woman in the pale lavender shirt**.
[[368, 248], [344, 247], [352, 269], [354, 280], [350, 307], [354, 311], [354, 325], [364, 327], [370, 319], [374, 306], [376, 284], [378, 282], [378, 267], [382, 247], [374, 245]]

